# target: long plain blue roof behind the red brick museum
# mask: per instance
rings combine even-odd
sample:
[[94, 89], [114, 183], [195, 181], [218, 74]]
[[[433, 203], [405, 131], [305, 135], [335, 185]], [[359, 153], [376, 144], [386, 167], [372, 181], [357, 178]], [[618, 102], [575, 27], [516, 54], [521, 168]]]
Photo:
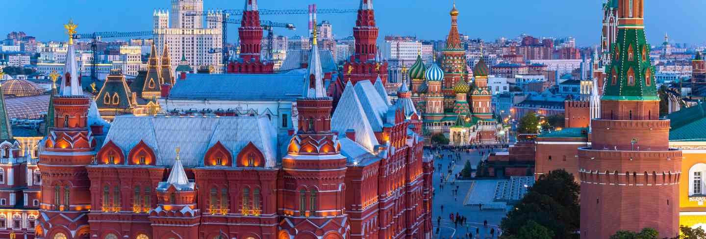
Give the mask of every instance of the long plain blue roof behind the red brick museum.
[[299, 74], [187, 74], [169, 98], [217, 100], [296, 100], [304, 92]]

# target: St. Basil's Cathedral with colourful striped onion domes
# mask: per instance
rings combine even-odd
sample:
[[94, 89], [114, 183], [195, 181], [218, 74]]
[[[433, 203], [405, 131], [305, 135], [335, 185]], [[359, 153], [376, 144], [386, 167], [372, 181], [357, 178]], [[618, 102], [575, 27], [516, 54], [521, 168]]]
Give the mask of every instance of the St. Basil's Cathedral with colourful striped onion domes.
[[424, 117], [424, 135], [448, 136], [449, 144], [497, 144], [502, 125], [491, 110], [489, 69], [481, 57], [469, 74], [466, 51], [458, 33], [458, 14], [453, 4], [451, 29], [440, 62], [425, 66], [421, 54], [409, 68], [412, 101]]

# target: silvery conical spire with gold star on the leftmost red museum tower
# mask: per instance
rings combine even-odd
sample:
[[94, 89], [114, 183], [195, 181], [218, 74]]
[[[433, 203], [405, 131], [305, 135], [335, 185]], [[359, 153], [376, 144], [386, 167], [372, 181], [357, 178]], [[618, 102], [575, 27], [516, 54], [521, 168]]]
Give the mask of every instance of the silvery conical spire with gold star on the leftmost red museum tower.
[[73, 48], [73, 34], [76, 33], [76, 24], [69, 21], [64, 25], [68, 33], [68, 49], [66, 49], [66, 64], [64, 64], [64, 78], [61, 79], [61, 95], [83, 95], [81, 91], [80, 74], [76, 63], [76, 49]]

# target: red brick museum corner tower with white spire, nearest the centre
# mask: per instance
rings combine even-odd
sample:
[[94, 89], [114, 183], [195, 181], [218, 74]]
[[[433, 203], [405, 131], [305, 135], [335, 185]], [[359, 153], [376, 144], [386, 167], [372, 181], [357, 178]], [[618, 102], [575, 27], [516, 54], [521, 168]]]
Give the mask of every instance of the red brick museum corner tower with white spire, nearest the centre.
[[345, 209], [346, 157], [331, 132], [333, 98], [326, 96], [316, 40], [309, 60], [308, 87], [297, 99], [299, 128], [282, 158], [278, 214], [283, 218], [277, 238], [349, 238]]

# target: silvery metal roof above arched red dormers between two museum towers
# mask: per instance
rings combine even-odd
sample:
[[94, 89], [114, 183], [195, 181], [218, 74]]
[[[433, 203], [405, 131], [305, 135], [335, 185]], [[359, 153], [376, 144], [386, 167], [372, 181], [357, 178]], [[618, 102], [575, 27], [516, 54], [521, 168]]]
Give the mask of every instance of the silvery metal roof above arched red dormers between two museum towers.
[[[178, 83], [177, 83], [178, 85]], [[105, 143], [112, 141], [128, 155], [140, 141], [157, 156], [156, 165], [172, 166], [176, 148], [184, 166], [203, 166], [206, 151], [220, 142], [236, 158], [249, 143], [265, 156], [265, 167], [277, 161], [277, 134], [265, 116], [136, 117], [121, 115], [112, 122]]]

